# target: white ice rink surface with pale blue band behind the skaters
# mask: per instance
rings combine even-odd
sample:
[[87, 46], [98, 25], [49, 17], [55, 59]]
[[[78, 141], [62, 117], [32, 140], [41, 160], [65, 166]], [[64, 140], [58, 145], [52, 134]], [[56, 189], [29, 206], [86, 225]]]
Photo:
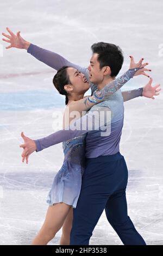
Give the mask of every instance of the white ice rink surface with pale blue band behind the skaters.
[[[124, 65], [129, 55], [144, 57], [154, 83], [162, 84], [162, 1], [11, 0], [0, 2], [0, 31], [21, 31], [24, 39], [87, 66], [97, 41], [120, 45]], [[161, 45], [162, 44], [162, 45]], [[64, 96], [53, 88], [55, 71], [26, 50], [5, 50], [0, 57], [0, 244], [29, 245], [45, 218], [46, 197], [63, 160], [62, 144], [34, 153], [21, 162], [21, 131], [36, 139], [54, 132], [55, 111], [64, 111]], [[2, 55], [2, 54], [1, 54]], [[123, 88], [139, 88], [135, 77]], [[87, 94], [89, 94], [88, 92]], [[124, 103], [121, 153], [127, 161], [128, 215], [148, 245], [163, 245], [163, 95]], [[59, 245], [61, 230], [49, 245]], [[101, 216], [91, 245], [122, 245]]]

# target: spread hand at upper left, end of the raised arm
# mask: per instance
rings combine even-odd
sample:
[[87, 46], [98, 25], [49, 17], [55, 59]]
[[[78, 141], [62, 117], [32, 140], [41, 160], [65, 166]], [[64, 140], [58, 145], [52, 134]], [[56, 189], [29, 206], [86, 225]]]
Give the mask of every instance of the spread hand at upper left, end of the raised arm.
[[22, 36], [20, 35], [20, 31], [18, 31], [15, 35], [9, 28], [6, 28], [6, 29], [9, 32], [9, 34], [2, 33], [2, 35], [5, 36], [5, 38], [3, 38], [2, 40], [5, 42], [9, 42], [9, 44], [10, 44], [9, 46], [5, 47], [6, 49], [15, 47], [18, 49], [28, 50], [30, 42], [28, 42], [22, 38]]

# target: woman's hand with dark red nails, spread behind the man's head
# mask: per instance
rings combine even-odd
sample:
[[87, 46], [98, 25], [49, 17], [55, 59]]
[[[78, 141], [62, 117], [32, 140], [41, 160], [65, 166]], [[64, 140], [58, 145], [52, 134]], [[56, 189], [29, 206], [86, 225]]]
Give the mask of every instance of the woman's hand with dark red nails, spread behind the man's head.
[[137, 72], [135, 73], [134, 76], [143, 75], [143, 76], [149, 77], [149, 75], [145, 71], [151, 72], [152, 70], [151, 69], [146, 69], [145, 66], [147, 66], [148, 63], [143, 63], [142, 64], [142, 61], [143, 61], [143, 58], [141, 58], [139, 62], [135, 63], [134, 57], [130, 56], [130, 67], [129, 67], [129, 69], [141, 68], [141, 69], [137, 70]]

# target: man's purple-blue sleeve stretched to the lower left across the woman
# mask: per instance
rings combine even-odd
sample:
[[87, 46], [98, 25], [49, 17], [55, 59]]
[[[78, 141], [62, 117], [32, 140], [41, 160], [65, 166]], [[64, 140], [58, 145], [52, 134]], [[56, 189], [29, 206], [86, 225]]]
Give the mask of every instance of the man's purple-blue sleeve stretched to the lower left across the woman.
[[[83, 115], [82, 118], [72, 121], [64, 130], [52, 133], [51, 135], [36, 139], [36, 151], [51, 147], [68, 139], [81, 136], [83, 133], [101, 129], [101, 136], [110, 135], [111, 111], [108, 107], [94, 106]], [[107, 124], [107, 125], [106, 125]], [[103, 133], [104, 132], [104, 133]]]

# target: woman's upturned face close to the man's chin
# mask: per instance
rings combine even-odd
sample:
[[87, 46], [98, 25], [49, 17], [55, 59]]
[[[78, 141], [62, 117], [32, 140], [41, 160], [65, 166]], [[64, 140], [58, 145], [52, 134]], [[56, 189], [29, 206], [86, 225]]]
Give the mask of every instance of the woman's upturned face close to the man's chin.
[[85, 75], [80, 73], [77, 69], [67, 68], [67, 75], [73, 86], [73, 93], [85, 93], [90, 88]]

